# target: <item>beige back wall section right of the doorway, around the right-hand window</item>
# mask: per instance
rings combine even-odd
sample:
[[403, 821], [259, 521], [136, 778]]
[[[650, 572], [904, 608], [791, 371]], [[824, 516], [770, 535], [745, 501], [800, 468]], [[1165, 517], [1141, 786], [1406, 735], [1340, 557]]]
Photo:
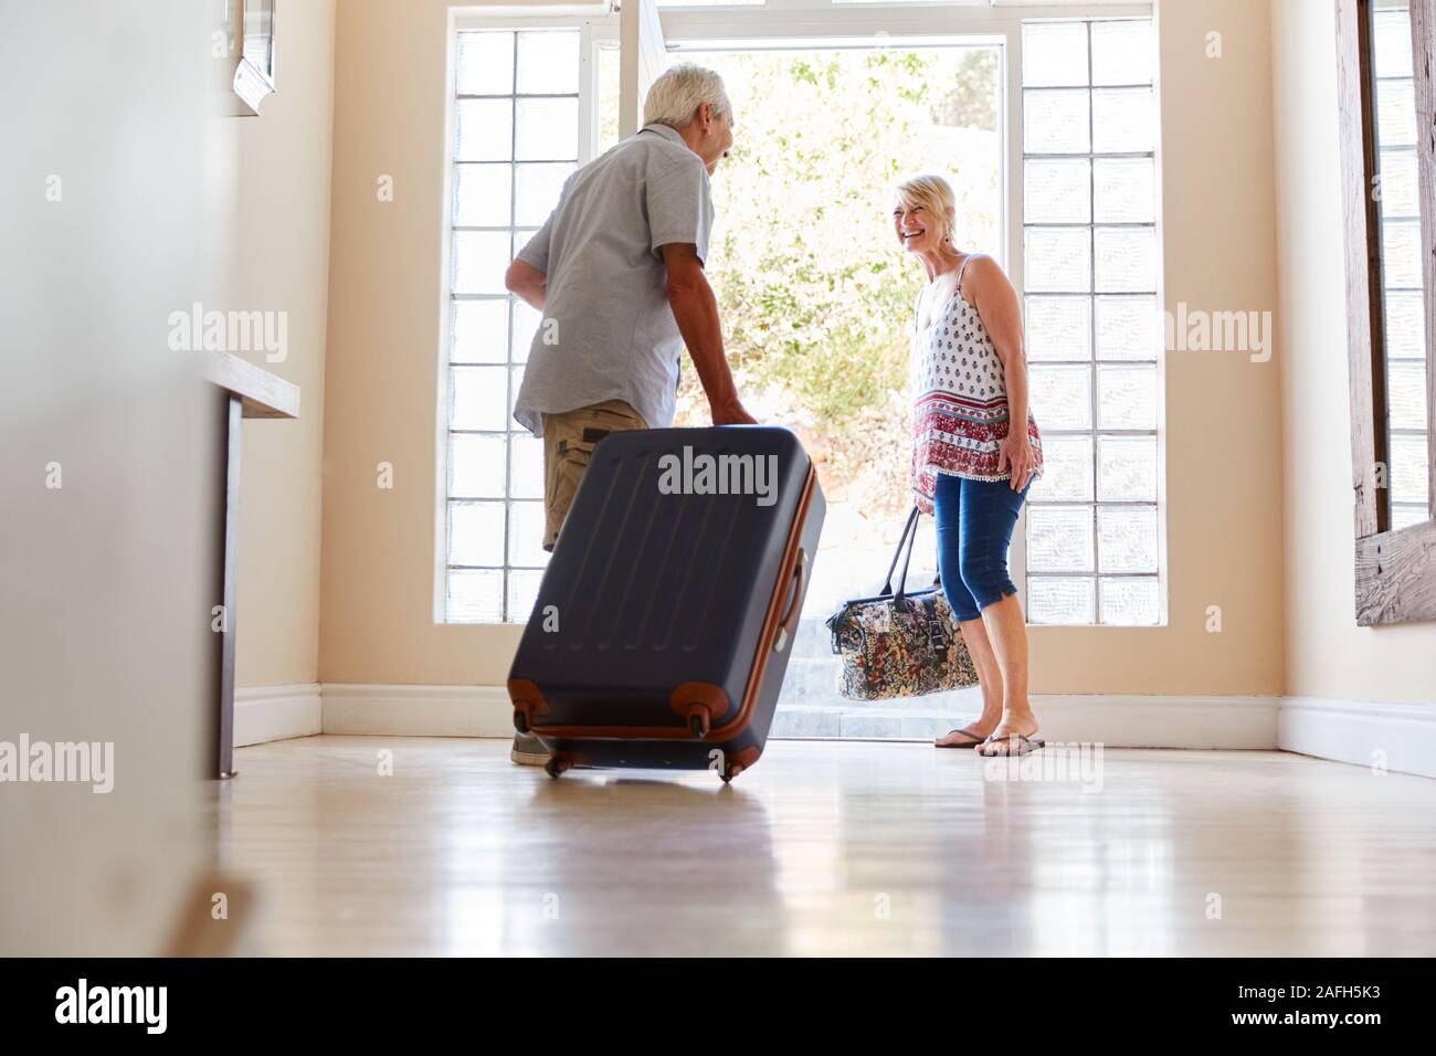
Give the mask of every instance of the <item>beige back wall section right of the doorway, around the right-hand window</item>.
[[[1272, 310], [1267, 0], [1165, 0], [1157, 27], [1166, 309]], [[1206, 57], [1209, 32], [1222, 34], [1221, 59]], [[1034, 628], [1035, 691], [1281, 691], [1282, 355], [1279, 341], [1267, 363], [1167, 355], [1169, 622]], [[1212, 605], [1221, 634], [1206, 631]]]

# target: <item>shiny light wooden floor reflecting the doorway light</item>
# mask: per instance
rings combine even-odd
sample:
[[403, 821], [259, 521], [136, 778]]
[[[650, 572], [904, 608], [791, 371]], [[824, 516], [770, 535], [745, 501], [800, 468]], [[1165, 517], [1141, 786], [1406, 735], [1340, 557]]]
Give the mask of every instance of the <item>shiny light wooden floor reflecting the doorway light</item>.
[[[379, 773], [392, 753], [392, 774]], [[1436, 953], [1436, 782], [1284, 753], [773, 741], [717, 774], [497, 740], [236, 753], [221, 866], [269, 954]], [[1037, 766], [1048, 756], [1045, 772]], [[1067, 772], [1055, 766], [1063, 760]], [[991, 769], [989, 769], [991, 767]]]

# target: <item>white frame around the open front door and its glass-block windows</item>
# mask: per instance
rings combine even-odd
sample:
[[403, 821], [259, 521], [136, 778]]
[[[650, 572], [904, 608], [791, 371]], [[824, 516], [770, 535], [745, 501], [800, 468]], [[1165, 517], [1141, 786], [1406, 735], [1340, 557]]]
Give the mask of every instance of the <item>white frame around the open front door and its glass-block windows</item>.
[[[1004, 135], [1004, 195], [1001, 224], [1007, 231], [1002, 266], [1025, 299], [1022, 276], [1022, 23], [1041, 19], [1153, 19], [1152, 3], [1054, 3], [1014, 4], [1008, 0], [968, 0], [968, 3], [942, 3], [941, 0], [915, 0], [913, 3], [836, 3], [834, 0], [767, 0], [764, 4], [694, 6], [668, 7], [658, 0], [663, 36], [668, 50], [681, 56], [684, 50], [714, 50], [722, 45], [741, 47], [777, 47], [784, 43], [807, 42], [817, 46], [872, 46], [875, 37], [885, 45], [931, 46], [942, 43], [1002, 43], [1001, 73], [1002, 92], [1001, 128]], [[580, 164], [593, 157], [597, 136], [597, 47], [619, 40], [619, 16], [599, 13], [593, 6], [554, 7], [534, 14], [534, 9], [470, 7], [451, 9], [448, 17], [448, 69], [444, 80], [445, 131], [444, 131], [444, 195], [442, 205], [442, 272], [441, 325], [439, 325], [439, 372], [444, 384], [438, 386], [437, 428], [437, 486], [435, 504], [435, 622], [447, 619], [447, 576], [448, 576], [448, 341], [449, 341], [449, 243], [451, 243], [451, 180], [454, 170], [454, 101], [455, 101], [455, 42], [462, 29], [528, 29], [579, 26], [582, 39], [582, 63], [586, 69], [580, 76]], [[620, 63], [628, 70], [638, 56], [625, 52]], [[1160, 72], [1156, 75], [1160, 76]], [[583, 151], [587, 154], [583, 154]], [[1160, 158], [1160, 151], [1159, 151]], [[1159, 159], [1160, 174], [1160, 159]], [[1157, 244], [1160, 254], [1162, 217], [1157, 217]], [[1160, 259], [1160, 257], [1159, 257]], [[1160, 290], [1159, 276], [1159, 290]], [[1159, 305], [1165, 303], [1159, 293]], [[1165, 408], [1160, 404], [1163, 366], [1159, 356], [1159, 428]], [[1165, 501], [1165, 438], [1157, 441], [1159, 476], [1159, 532], [1162, 532], [1159, 593], [1162, 622], [1166, 622], [1166, 501]], [[507, 506], [505, 499], [505, 506]], [[507, 520], [505, 520], [507, 534]], [[1025, 516], [1014, 533], [1011, 553], [1011, 575], [1025, 598]], [[507, 539], [505, 539], [507, 553]], [[1094, 573], [1096, 575], [1096, 573]], [[507, 608], [507, 596], [504, 608]], [[1100, 613], [1099, 613], [1100, 616]], [[1099, 624], [1100, 625], [1100, 624]], [[1045, 626], [1045, 625], [1044, 625]], [[1081, 625], [1087, 626], [1087, 625]]]

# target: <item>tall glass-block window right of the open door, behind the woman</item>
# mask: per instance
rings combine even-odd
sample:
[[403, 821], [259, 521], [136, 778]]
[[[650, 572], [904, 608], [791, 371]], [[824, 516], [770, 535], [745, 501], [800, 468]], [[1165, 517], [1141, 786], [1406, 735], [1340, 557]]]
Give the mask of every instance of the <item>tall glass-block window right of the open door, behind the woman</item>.
[[1155, 60], [1150, 19], [1022, 26], [1032, 624], [1163, 619]]

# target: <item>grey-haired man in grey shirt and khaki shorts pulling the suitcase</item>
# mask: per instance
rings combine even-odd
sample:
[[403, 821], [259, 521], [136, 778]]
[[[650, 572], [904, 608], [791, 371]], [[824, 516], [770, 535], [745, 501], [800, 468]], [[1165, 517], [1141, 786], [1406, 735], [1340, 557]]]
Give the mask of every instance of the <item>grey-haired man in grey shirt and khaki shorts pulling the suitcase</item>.
[[[684, 345], [714, 425], [751, 424], [704, 276], [708, 177], [732, 147], [722, 78], [681, 65], [643, 103], [643, 128], [574, 172], [508, 267], [508, 289], [543, 312], [514, 418], [544, 441], [544, 549], [559, 539], [589, 455], [615, 430], [673, 422]], [[531, 734], [516, 763], [543, 763]]]

